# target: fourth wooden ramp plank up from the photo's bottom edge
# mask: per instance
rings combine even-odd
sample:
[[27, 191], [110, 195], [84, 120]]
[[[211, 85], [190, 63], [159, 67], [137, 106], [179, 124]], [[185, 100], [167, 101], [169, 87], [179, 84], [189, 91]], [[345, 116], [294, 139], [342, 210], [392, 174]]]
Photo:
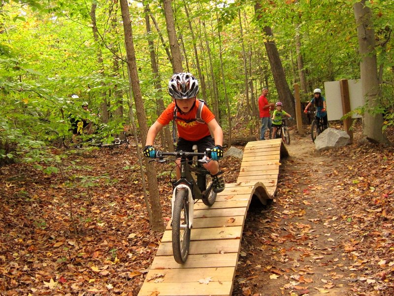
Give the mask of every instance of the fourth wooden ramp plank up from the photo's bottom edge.
[[[192, 230], [193, 232], [193, 230]], [[238, 253], [241, 246], [240, 239], [217, 239], [210, 241], [193, 241], [190, 243], [189, 254], [218, 254]], [[162, 242], [156, 256], [172, 256], [172, 243]]]

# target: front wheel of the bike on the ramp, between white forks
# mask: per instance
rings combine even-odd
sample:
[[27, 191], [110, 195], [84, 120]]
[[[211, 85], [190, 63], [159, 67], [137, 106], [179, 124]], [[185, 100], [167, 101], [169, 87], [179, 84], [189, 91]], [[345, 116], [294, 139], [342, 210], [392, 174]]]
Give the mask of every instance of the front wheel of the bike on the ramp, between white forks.
[[189, 255], [190, 228], [188, 190], [179, 189], [172, 213], [172, 252], [177, 263], [185, 263]]

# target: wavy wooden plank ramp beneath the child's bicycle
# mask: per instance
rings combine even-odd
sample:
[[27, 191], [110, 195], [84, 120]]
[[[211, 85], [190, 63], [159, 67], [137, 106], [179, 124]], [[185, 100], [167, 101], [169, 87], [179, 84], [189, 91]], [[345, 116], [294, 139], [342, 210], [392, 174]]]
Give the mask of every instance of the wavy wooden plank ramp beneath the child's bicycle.
[[272, 199], [280, 158], [288, 155], [281, 139], [249, 142], [237, 183], [226, 184], [210, 208], [198, 201], [189, 257], [184, 264], [172, 256], [170, 222], [146, 275], [139, 296], [230, 296], [243, 224], [252, 196], [264, 204]]

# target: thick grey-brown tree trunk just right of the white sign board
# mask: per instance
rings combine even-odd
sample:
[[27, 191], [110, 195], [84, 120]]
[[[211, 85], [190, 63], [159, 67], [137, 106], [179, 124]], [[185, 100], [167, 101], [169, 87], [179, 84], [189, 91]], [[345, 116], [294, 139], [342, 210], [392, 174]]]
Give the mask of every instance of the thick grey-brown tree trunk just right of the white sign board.
[[353, 6], [357, 24], [357, 37], [359, 39], [359, 53], [361, 55], [360, 73], [362, 96], [366, 106], [362, 117], [362, 134], [364, 139], [387, 144], [388, 140], [382, 132], [383, 115], [374, 114], [373, 109], [378, 107], [381, 98], [379, 86], [375, 32], [372, 22], [372, 10], [365, 6], [365, 0]]

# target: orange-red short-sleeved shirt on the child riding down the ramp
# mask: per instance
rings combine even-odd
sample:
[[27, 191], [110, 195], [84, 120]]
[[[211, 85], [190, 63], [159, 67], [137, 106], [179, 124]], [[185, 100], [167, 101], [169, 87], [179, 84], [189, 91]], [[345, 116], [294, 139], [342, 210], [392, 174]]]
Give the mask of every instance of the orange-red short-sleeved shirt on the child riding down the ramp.
[[[201, 119], [204, 120], [205, 123], [198, 123], [196, 120], [193, 120], [196, 119], [199, 104], [201, 104], [200, 101], [196, 100], [194, 108], [187, 114], [181, 114], [180, 112], [176, 113], [176, 126], [178, 128], [179, 138], [187, 141], [198, 141], [211, 134], [206, 123], [214, 119], [215, 115], [213, 115], [205, 104], [201, 111]], [[167, 125], [174, 119], [174, 108], [175, 102], [172, 102], [159, 116], [157, 121], [163, 125]]]

